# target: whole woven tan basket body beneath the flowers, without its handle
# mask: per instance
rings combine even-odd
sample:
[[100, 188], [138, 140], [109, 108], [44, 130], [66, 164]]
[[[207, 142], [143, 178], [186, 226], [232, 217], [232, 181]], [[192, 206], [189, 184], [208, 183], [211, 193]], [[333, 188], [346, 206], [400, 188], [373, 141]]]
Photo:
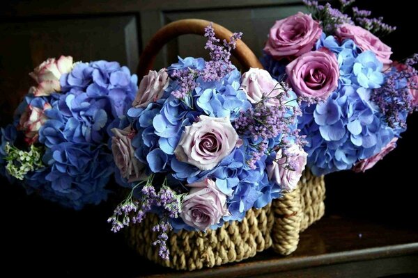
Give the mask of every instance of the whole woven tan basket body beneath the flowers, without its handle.
[[305, 171], [296, 190], [264, 208], [252, 208], [241, 222], [226, 222], [206, 232], [171, 231], [167, 242], [169, 261], [162, 260], [153, 246], [157, 233], [151, 228], [159, 221], [157, 215], [147, 215], [141, 224], [128, 227], [127, 240], [150, 261], [176, 270], [242, 261], [271, 246], [275, 252], [288, 255], [296, 250], [300, 232], [323, 216], [324, 199], [323, 177]]

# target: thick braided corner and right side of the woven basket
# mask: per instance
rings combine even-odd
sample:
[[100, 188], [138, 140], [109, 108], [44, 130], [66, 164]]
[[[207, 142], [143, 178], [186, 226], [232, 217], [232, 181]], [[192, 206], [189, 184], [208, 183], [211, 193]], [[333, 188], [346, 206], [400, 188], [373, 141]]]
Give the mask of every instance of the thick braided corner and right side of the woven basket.
[[275, 252], [288, 255], [296, 250], [300, 232], [323, 217], [324, 199], [324, 177], [316, 177], [307, 170], [296, 190], [273, 200], [272, 246]]

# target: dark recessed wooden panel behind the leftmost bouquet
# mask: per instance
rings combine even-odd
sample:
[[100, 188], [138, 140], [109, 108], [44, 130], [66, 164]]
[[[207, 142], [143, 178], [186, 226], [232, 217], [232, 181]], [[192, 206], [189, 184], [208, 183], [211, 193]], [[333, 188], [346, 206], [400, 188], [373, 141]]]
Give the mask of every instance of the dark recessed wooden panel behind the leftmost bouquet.
[[75, 61], [116, 60], [135, 72], [138, 56], [134, 16], [95, 17], [0, 24], [0, 123], [10, 115], [33, 81], [29, 72], [49, 57]]

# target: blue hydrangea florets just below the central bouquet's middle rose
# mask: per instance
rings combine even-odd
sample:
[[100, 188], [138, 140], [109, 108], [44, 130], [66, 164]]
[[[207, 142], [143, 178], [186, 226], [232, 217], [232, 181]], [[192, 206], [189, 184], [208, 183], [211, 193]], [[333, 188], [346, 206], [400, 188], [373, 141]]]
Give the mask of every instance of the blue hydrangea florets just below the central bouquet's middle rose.
[[[217, 188], [228, 196], [227, 205], [231, 215], [224, 216], [222, 221], [214, 225], [212, 229], [221, 227], [224, 222], [230, 220], [242, 220], [250, 208], [262, 208], [272, 202], [272, 199], [281, 196], [279, 185], [268, 181], [265, 173], [265, 159], [267, 156], [263, 156], [260, 161], [256, 162], [256, 169], [250, 169], [246, 163], [249, 158], [251, 158], [249, 152], [242, 146], [235, 148], [217, 167], [208, 171], [200, 171], [198, 168], [182, 163], [176, 158], [171, 161], [171, 168], [176, 172], [174, 174], [176, 179], [194, 183], [209, 178], [214, 180]], [[179, 218], [173, 219], [171, 224], [176, 230], [194, 229]]]

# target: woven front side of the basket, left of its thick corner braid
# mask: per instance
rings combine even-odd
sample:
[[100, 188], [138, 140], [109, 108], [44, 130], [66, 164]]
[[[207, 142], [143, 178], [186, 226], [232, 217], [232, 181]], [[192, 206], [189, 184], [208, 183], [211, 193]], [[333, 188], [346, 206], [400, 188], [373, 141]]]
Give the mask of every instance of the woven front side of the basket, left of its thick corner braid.
[[132, 225], [128, 231], [130, 245], [150, 261], [178, 270], [212, 268], [241, 261], [272, 245], [270, 234], [274, 219], [270, 205], [251, 209], [242, 222], [231, 221], [206, 233], [184, 230], [178, 234], [169, 233], [167, 248], [170, 250], [170, 261], [160, 259], [157, 248], [152, 244], [157, 239], [157, 233], [151, 228], [157, 222], [156, 215], [149, 215], [143, 223]]

